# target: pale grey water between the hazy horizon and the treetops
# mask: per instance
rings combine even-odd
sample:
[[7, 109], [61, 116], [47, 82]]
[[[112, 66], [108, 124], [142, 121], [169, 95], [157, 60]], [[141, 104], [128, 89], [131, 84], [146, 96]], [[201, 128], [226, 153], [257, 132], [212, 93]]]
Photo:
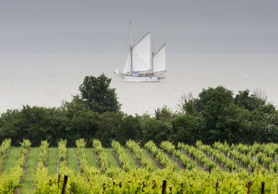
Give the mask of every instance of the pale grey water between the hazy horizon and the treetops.
[[208, 86], [222, 85], [237, 93], [264, 90], [278, 105], [277, 54], [168, 54], [166, 79], [160, 83], [122, 82], [113, 74], [117, 54], [1, 54], [0, 112], [22, 104], [59, 106], [78, 93], [84, 76], [105, 73], [112, 78], [122, 110], [154, 113], [164, 104], [176, 109], [182, 94], [195, 97]]

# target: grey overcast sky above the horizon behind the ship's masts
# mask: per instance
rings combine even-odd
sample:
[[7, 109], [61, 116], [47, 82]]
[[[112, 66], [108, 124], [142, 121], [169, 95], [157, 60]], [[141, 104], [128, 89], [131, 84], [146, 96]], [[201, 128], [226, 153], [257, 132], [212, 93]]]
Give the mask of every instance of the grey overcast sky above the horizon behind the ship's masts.
[[0, 53], [118, 53], [129, 21], [168, 53], [278, 53], [277, 0], [0, 2]]

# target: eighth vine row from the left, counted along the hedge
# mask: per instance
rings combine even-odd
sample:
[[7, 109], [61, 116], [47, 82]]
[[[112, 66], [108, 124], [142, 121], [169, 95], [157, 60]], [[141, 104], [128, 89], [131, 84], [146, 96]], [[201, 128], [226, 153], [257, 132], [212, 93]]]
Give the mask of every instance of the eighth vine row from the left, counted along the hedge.
[[134, 154], [135, 158], [141, 162], [143, 168], [147, 170], [152, 170], [152, 164], [147, 160], [147, 158], [143, 155], [143, 149], [140, 148], [139, 143], [136, 143], [132, 140], [126, 142], [126, 147]]

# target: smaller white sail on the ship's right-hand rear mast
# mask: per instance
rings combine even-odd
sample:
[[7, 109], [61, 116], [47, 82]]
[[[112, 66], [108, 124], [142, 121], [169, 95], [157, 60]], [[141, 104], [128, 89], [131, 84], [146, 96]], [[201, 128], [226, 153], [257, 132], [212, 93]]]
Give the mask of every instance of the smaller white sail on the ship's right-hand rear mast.
[[165, 44], [154, 55], [153, 72], [166, 72]]

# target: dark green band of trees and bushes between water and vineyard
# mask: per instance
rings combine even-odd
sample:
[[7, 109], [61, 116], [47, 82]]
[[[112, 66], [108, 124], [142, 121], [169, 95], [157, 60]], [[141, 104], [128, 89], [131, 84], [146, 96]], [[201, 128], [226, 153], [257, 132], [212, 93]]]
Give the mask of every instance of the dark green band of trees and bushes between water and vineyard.
[[222, 86], [207, 88], [194, 98], [191, 93], [181, 97], [179, 111], [167, 106], [155, 110], [155, 115], [128, 115], [120, 111], [121, 104], [111, 79], [104, 74], [86, 76], [79, 86], [80, 95], [63, 101], [60, 107], [24, 105], [9, 109], [0, 117], [0, 139], [11, 138], [13, 145], [29, 139], [32, 146], [48, 140], [57, 146], [67, 139], [68, 146], [85, 138], [91, 146], [99, 139], [109, 147], [112, 140], [122, 145], [127, 140], [142, 145], [153, 140], [159, 144], [170, 141], [193, 144], [202, 140], [229, 144], [278, 142], [278, 110], [267, 102], [263, 92], [239, 91], [234, 94]]

